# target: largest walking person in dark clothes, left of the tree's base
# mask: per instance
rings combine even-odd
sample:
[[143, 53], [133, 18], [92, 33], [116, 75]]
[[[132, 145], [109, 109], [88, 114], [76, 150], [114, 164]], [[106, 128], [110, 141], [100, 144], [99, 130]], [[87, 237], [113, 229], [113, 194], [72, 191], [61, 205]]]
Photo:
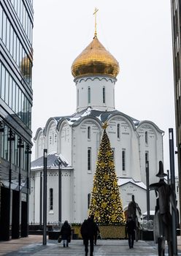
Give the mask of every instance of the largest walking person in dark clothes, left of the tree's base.
[[93, 217], [85, 219], [80, 228], [80, 233], [84, 241], [85, 256], [88, 256], [88, 241], [90, 241], [90, 256], [93, 256], [93, 236], [96, 233], [96, 223], [93, 221]]

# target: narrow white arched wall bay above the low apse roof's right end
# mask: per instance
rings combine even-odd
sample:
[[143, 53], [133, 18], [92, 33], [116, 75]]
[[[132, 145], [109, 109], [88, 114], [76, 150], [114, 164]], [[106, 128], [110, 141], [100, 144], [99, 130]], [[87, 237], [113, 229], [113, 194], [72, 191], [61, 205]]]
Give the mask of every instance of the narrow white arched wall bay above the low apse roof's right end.
[[59, 129], [59, 152], [72, 165], [72, 127], [63, 122]]

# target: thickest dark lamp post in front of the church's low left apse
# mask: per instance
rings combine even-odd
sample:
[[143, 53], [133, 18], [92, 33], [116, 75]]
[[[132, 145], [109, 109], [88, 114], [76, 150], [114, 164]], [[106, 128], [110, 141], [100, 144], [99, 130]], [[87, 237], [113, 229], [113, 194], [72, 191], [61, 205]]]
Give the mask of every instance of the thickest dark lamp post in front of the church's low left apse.
[[43, 151], [43, 245], [47, 244], [47, 149]]

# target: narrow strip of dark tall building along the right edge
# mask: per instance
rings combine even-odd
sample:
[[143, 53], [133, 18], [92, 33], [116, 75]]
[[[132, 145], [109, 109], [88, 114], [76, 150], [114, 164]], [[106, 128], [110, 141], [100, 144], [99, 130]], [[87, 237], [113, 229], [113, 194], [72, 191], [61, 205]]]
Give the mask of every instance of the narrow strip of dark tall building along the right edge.
[[[179, 180], [181, 180], [181, 3], [180, 0], [171, 0], [172, 10], [172, 44], [174, 62], [174, 105], [175, 105], [175, 124], [177, 140], [177, 157]], [[181, 202], [181, 184], [180, 184]], [[181, 206], [181, 205], [180, 205]], [[181, 212], [181, 208], [180, 208]]]

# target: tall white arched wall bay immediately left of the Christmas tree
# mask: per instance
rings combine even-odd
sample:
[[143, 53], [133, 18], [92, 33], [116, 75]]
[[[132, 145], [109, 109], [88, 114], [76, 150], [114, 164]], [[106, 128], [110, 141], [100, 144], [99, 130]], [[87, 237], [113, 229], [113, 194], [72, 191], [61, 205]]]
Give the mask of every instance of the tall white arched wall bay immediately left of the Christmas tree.
[[[88, 139], [90, 127], [90, 140]], [[74, 127], [73, 166], [74, 166], [74, 222], [82, 222], [88, 217], [88, 194], [93, 187], [93, 174], [96, 170], [100, 126], [96, 121], [86, 120]], [[98, 141], [99, 140], [99, 141]], [[90, 170], [88, 170], [88, 149], [90, 149]]]

